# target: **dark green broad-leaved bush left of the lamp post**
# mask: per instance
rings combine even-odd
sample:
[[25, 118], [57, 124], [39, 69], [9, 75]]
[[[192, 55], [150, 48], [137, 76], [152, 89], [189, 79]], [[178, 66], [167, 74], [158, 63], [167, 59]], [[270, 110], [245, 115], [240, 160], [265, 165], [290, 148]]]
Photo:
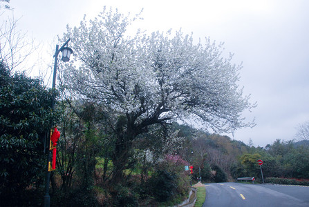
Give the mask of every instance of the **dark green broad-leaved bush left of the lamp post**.
[[[0, 199], [25, 195], [26, 188], [44, 181], [44, 141], [54, 120], [50, 110], [51, 90], [39, 79], [11, 75], [0, 63]], [[27, 199], [24, 199], [27, 201]]]

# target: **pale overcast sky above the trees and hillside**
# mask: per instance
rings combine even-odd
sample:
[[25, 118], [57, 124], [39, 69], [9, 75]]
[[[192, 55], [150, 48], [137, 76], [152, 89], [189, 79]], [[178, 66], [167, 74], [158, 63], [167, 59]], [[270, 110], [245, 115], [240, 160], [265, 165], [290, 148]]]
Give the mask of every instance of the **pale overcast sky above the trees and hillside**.
[[[245, 115], [249, 120], [256, 117], [256, 126], [234, 132], [234, 139], [245, 144], [250, 138], [255, 146], [294, 139], [297, 125], [309, 120], [307, 0], [10, 1], [15, 19], [21, 18], [18, 28], [41, 43], [42, 50], [33, 55], [41, 54], [50, 66], [57, 35], [66, 32], [67, 24], [79, 26], [84, 14], [96, 17], [104, 6], [124, 14], [143, 8], [144, 20], [136, 27], [149, 32], [182, 28], [185, 33], [193, 32], [196, 41], [210, 37], [225, 42], [225, 52], [234, 53], [233, 62], [243, 62], [239, 84], [258, 104]], [[2, 14], [1, 21], [11, 13]], [[51, 69], [48, 72], [51, 75]]]

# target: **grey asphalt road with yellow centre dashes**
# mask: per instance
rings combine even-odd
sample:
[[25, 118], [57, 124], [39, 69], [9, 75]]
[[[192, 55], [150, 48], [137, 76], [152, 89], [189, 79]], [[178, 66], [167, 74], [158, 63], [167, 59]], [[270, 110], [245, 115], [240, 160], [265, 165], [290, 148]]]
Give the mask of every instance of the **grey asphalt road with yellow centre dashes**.
[[205, 184], [203, 207], [309, 207], [309, 187], [271, 184]]

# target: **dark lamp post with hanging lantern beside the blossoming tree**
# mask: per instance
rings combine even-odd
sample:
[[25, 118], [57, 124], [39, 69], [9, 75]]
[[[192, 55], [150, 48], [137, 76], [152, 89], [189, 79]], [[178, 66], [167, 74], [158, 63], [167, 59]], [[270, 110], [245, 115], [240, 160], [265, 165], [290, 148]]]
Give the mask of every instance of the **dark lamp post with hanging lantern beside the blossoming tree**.
[[[57, 61], [58, 61], [58, 55], [59, 52], [62, 52], [62, 61], [67, 62], [70, 60], [70, 55], [73, 53], [73, 50], [71, 48], [66, 47], [68, 45], [68, 41], [70, 41], [70, 39], [68, 39], [63, 45], [62, 47], [59, 49], [59, 46], [56, 45], [56, 51], [55, 51], [55, 63], [54, 63], [54, 75], [53, 75], [53, 86], [52, 86], [52, 90], [53, 90], [53, 97], [52, 97], [52, 103], [51, 103], [51, 109], [52, 111], [55, 108], [55, 88], [56, 88], [56, 72], [57, 72]], [[52, 121], [52, 125], [53, 125], [53, 121]], [[45, 147], [48, 148], [48, 144], [50, 143], [50, 138], [46, 137], [46, 145]], [[45, 178], [45, 196], [44, 196], [44, 207], [49, 207], [50, 206], [50, 196], [49, 196], [49, 181], [50, 181], [50, 172], [48, 170], [48, 166], [49, 166], [49, 162], [50, 162], [50, 150], [48, 148], [47, 150], [47, 164], [46, 164], [46, 178]]]

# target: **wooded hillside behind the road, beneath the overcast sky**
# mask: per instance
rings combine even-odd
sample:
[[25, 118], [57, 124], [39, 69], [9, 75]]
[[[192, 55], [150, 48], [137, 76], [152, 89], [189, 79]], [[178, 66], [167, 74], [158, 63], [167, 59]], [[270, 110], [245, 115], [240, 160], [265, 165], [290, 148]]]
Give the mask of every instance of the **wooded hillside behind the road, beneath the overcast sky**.
[[189, 155], [194, 177], [202, 177], [203, 181], [233, 181], [237, 177], [255, 177], [261, 181], [258, 159], [263, 160], [264, 178], [309, 179], [308, 141], [277, 139], [263, 148], [188, 126], [175, 126], [186, 137], [180, 153]]

